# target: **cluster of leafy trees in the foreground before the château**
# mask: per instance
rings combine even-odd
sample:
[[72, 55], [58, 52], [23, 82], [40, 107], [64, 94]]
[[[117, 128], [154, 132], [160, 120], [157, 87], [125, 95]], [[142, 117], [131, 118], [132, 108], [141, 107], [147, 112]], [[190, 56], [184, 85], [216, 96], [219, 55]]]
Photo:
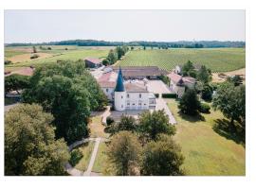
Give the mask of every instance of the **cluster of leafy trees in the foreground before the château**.
[[[109, 121], [111, 123], [111, 121]], [[114, 175], [183, 175], [180, 146], [174, 143], [174, 126], [164, 111], [143, 112], [138, 121], [121, 116], [120, 122], [107, 127], [112, 140], [107, 149]]]

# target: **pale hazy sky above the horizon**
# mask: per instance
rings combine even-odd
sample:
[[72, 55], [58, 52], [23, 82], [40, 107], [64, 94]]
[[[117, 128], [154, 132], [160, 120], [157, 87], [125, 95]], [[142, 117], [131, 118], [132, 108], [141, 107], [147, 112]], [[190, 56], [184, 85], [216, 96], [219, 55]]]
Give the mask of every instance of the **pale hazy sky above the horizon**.
[[5, 10], [5, 43], [245, 41], [244, 10]]

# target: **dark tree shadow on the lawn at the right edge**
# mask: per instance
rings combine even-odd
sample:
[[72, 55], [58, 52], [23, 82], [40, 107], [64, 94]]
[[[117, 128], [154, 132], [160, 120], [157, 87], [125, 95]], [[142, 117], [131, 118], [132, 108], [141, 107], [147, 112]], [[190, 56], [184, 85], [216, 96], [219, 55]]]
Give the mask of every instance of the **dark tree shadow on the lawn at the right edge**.
[[238, 131], [238, 129], [241, 128], [239, 124], [236, 123], [235, 126], [231, 126], [227, 119], [216, 119], [214, 122], [215, 124], [212, 129], [215, 132], [228, 140], [234, 141], [236, 144], [241, 144], [246, 147], [245, 132]]

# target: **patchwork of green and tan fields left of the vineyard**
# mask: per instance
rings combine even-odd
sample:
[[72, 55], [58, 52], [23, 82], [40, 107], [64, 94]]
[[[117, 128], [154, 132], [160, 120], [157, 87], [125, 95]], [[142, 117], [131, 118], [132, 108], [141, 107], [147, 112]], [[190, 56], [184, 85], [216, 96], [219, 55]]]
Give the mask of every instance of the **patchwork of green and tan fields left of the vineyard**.
[[[13, 63], [6, 65], [10, 67], [26, 67], [30, 65], [40, 66], [47, 63], [56, 62], [57, 60], [81, 60], [86, 57], [104, 58], [107, 56], [111, 46], [44, 46], [51, 47], [51, 50], [42, 50], [37, 46], [37, 52], [40, 56], [36, 60], [30, 60], [32, 52], [31, 46], [6, 47], [5, 59], [11, 60]], [[65, 50], [67, 48], [67, 50]]]

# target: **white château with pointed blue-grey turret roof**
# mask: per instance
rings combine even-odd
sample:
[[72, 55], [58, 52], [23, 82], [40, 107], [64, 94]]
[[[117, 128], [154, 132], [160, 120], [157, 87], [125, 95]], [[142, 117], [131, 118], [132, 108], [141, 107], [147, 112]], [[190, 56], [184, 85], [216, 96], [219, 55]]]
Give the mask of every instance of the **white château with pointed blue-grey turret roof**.
[[104, 94], [113, 101], [116, 111], [155, 108], [155, 94], [148, 91], [146, 83], [142, 80], [125, 81], [120, 68], [118, 76], [115, 72], [106, 73], [99, 83]]

